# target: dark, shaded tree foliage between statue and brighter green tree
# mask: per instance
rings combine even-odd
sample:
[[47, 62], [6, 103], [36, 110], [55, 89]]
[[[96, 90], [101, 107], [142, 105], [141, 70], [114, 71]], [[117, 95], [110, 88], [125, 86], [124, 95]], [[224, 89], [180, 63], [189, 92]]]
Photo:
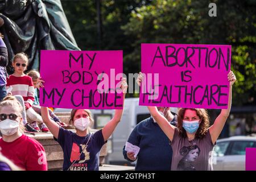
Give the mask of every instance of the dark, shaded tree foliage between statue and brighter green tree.
[[96, 1], [61, 1], [76, 42], [82, 50], [118, 49], [130, 52], [132, 39], [121, 27], [129, 22], [131, 11], [151, 0], [104, 0], [101, 2], [102, 40], [98, 44]]

